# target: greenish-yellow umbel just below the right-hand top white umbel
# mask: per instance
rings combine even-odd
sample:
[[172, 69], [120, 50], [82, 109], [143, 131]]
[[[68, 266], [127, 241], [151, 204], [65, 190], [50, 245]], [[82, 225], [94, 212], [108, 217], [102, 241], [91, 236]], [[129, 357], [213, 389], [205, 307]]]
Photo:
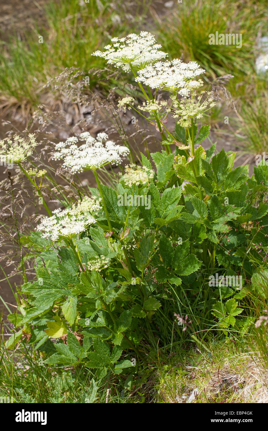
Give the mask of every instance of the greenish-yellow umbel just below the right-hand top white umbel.
[[[207, 97], [202, 101], [204, 94], [206, 94]], [[179, 118], [179, 124], [182, 127], [190, 126], [192, 118], [202, 118], [204, 112], [216, 105], [211, 97], [211, 92], [202, 91], [197, 99], [195, 98], [195, 92], [193, 92], [192, 95], [192, 98], [182, 99], [180, 101], [176, 96], [171, 96], [173, 107], [166, 109], [167, 112], [173, 112], [174, 118]]]

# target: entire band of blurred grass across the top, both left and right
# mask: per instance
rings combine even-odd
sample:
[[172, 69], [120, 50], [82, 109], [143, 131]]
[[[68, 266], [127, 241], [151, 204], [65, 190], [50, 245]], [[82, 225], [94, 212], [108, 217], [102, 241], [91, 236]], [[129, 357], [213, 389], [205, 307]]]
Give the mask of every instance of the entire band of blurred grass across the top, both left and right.
[[[91, 56], [92, 52], [108, 44], [111, 35], [143, 29], [156, 34], [170, 58], [196, 60], [206, 70], [208, 83], [233, 75], [226, 87], [238, 115], [230, 111], [232, 122], [227, 132], [244, 152], [256, 154], [267, 149], [268, 75], [258, 75], [255, 67], [258, 41], [268, 34], [265, 0], [58, 0], [42, 2], [39, 7], [42, 19], [33, 19], [29, 28], [20, 23], [19, 31], [17, 27], [5, 34], [2, 31], [2, 107], [12, 105], [29, 112], [43, 101], [44, 84], [70, 67], [80, 68], [82, 75], [98, 71], [90, 73], [89, 86], [108, 91], [112, 80], [108, 82], [105, 62]], [[209, 34], [216, 31], [242, 34], [242, 47], [209, 45]], [[43, 43], [39, 43], [40, 36]], [[218, 104], [209, 118], [212, 127], [223, 126], [225, 115]]]

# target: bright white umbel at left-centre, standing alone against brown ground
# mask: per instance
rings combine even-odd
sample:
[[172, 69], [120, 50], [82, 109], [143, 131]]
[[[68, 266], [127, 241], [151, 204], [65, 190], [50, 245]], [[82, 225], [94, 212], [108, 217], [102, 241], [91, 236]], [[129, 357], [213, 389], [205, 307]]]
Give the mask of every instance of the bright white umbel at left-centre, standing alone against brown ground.
[[[53, 159], [62, 159], [63, 166], [72, 173], [82, 172], [84, 169], [95, 170], [108, 163], [118, 165], [122, 161], [121, 156], [129, 154], [129, 149], [107, 140], [106, 133], [99, 133], [96, 139], [89, 132], [81, 133], [79, 138], [70, 137], [57, 144]], [[79, 141], [84, 141], [85, 144], [78, 146]], [[104, 145], [102, 141], [107, 142]]]

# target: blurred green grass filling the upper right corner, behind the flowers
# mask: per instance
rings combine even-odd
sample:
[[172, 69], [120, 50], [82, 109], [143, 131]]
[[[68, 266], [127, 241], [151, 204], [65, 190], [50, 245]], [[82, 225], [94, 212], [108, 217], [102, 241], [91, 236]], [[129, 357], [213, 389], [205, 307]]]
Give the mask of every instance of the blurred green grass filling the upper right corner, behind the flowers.
[[[156, 22], [160, 41], [172, 58], [182, 56], [186, 61], [197, 61], [206, 70], [205, 79], [209, 82], [217, 77], [233, 75], [226, 86], [237, 112], [230, 112], [232, 127], [225, 127], [226, 137], [228, 139], [231, 132], [234, 144], [244, 153], [258, 154], [267, 150], [264, 119], [267, 76], [257, 73], [255, 65], [257, 57], [262, 54], [259, 40], [266, 36], [264, 2], [182, 2], [174, 6], [165, 20], [156, 15]], [[237, 42], [226, 44], [226, 41], [210, 44], [210, 35], [216, 35], [216, 32], [237, 34], [241, 46]], [[213, 112], [222, 122], [221, 110], [213, 109]]]

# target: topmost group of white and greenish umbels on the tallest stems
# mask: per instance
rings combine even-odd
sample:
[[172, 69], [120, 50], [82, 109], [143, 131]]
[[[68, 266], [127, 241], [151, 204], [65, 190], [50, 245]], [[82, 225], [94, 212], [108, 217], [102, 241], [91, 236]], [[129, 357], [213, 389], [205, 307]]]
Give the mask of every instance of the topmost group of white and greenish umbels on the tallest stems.
[[[182, 127], [188, 127], [194, 118], [200, 119], [204, 112], [215, 105], [209, 93], [206, 98], [203, 97], [204, 92], [201, 92], [201, 97], [197, 97], [196, 91], [203, 86], [203, 81], [196, 77], [205, 70], [195, 61], [159, 61], [166, 57], [166, 53], [158, 50], [160, 45], [155, 44], [153, 34], [142, 31], [139, 35], [129, 34], [126, 38], [115, 38], [112, 41], [113, 47], [108, 45], [104, 53], [96, 51], [94, 55], [107, 59], [108, 63], [121, 67], [126, 72], [131, 70], [144, 94], [142, 84], [149, 88], [149, 96], [145, 94], [147, 101], [138, 106], [138, 109], [151, 113], [155, 119], [158, 117], [157, 130], [160, 131], [160, 119], [165, 120], [168, 112], [179, 119]], [[150, 88], [155, 89], [154, 97]], [[157, 90], [172, 93], [169, 103], [158, 100]], [[124, 97], [118, 104], [119, 107], [124, 106], [124, 109], [125, 105], [132, 105], [131, 97]]]

